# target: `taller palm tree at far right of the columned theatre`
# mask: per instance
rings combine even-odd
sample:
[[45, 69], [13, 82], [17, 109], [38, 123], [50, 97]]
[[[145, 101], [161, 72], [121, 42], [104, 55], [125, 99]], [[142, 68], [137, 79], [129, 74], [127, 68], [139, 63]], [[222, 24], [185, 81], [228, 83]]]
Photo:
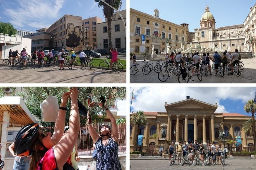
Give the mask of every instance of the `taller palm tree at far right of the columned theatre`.
[[254, 150], [256, 151], [256, 133], [255, 133], [255, 117], [254, 113], [256, 111], [256, 103], [253, 100], [248, 100], [247, 103], [244, 105], [244, 110], [246, 113], [252, 113], [252, 135], [253, 135], [253, 143], [254, 143]]

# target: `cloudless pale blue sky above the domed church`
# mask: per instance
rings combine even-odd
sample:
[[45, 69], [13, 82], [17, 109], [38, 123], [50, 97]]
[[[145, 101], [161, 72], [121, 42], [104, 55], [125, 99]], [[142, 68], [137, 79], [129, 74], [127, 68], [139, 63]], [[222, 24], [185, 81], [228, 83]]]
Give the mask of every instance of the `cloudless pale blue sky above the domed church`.
[[[147, 3], [147, 5], [145, 4]], [[200, 19], [204, 14], [206, 3], [215, 18], [215, 28], [244, 24], [250, 8], [255, 4], [252, 0], [130, 0], [130, 8], [153, 15], [157, 8], [159, 18], [175, 24], [187, 23], [190, 32], [200, 28]]]

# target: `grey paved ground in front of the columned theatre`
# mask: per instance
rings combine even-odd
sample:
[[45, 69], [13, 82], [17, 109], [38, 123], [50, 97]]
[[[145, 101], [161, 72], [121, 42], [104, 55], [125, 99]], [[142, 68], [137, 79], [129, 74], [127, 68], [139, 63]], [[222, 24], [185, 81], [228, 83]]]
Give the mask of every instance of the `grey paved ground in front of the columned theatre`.
[[[175, 161], [175, 163], [177, 160]], [[256, 160], [226, 160], [225, 164], [226, 166], [222, 165], [216, 165], [216, 166], [203, 166], [203, 165], [172, 165], [169, 166], [168, 164], [168, 159], [167, 160], [134, 160], [130, 159], [130, 164], [131, 164], [131, 170], [141, 170], [141, 169], [147, 169], [147, 170], [153, 170], [153, 169], [207, 169], [207, 170], [212, 170], [212, 169], [218, 169], [218, 170], [252, 170], [256, 169]]]

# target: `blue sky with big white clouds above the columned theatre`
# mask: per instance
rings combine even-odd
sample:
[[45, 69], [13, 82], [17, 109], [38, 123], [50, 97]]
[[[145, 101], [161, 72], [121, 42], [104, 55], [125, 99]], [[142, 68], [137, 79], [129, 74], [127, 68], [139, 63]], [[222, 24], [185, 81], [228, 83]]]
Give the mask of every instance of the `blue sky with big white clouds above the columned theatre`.
[[164, 102], [174, 103], [185, 100], [186, 96], [206, 103], [218, 103], [216, 113], [240, 113], [251, 116], [244, 111], [244, 104], [254, 99], [255, 87], [130, 87], [130, 104], [132, 90], [134, 97], [131, 111], [166, 112]]

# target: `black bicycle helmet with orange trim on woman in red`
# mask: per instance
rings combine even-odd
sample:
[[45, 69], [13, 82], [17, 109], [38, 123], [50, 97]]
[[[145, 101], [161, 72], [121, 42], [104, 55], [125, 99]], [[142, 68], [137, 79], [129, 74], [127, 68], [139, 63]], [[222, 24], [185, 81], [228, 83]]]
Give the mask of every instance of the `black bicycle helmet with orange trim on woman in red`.
[[14, 153], [20, 157], [30, 156], [36, 140], [39, 124], [28, 124], [20, 129], [14, 141]]

